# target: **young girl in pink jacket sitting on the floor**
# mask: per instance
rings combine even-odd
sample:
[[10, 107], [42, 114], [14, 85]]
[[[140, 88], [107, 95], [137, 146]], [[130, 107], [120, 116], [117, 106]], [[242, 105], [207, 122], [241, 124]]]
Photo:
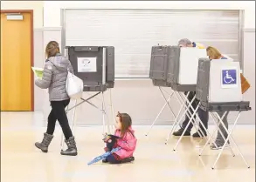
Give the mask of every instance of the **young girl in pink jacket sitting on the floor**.
[[114, 135], [108, 135], [109, 137], [107, 139], [105, 138], [104, 142], [107, 143], [107, 147], [105, 147], [106, 152], [117, 147], [121, 147], [121, 149], [102, 160], [103, 163], [121, 164], [135, 160], [133, 154], [137, 139], [135, 138], [135, 131], [131, 125], [131, 117], [127, 113], [118, 112]]

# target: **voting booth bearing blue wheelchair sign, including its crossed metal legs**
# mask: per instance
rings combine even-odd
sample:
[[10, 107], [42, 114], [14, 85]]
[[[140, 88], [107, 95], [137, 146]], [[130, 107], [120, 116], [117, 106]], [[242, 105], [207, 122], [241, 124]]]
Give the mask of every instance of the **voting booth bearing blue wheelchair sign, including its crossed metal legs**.
[[[214, 132], [217, 130], [220, 131], [219, 126], [223, 125], [225, 131], [228, 133], [228, 137], [224, 138], [223, 133], [220, 131], [222, 137], [225, 139], [225, 144], [220, 150], [218, 158], [223, 152], [225, 146], [228, 145], [228, 141], [231, 141], [238, 149], [238, 152], [244, 159], [246, 165], [250, 167], [240, 152], [239, 146], [232, 138], [232, 131], [238, 122], [241, 111], [251, 110], [250, 103], [245, 102], [242, 99], [239, 62], [233, 62], [231, 59], [210, 60], [208, 58], [200, 58], [198, 63], [196, 97], [200, 102], [199, 107], [204, 111], [209, 111], [211, 117], [214, 119], [215, 124], [217, 125]], [[224, 115], [219, 116], [219, 111], [224, 112]], [[222, 121], [227, 111], [239, 112], [231, 131], [226, 129]], [[210, 138], [208, 139], [208, 142], [209, 141]], [[204, 148], [207, 143], [204, 145]], [[202, 154], [204, 148], [199, 155]], [[233, 152], [232, 155], [234, 156]], [[214, 169], [218, 162], [218, 158], [212, 166], [212, 169]]]

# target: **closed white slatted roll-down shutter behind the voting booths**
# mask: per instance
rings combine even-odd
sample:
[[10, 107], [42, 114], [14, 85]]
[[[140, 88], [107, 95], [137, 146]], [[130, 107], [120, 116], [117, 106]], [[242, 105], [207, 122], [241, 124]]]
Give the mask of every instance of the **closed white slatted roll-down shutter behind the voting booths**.
[[239, 60], [239, 10], [64, 10], [66, 46], [114, 46], [115, 78], [149, 78], [151, 47], [189, 38]]

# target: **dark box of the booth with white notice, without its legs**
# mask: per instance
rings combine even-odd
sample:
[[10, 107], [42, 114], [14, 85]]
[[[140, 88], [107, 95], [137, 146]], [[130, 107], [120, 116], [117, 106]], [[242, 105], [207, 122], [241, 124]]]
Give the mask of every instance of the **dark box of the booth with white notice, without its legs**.
[[84, 91], [114, 88], [114, 47], [67, 46], [74, 74], [84, 82]]

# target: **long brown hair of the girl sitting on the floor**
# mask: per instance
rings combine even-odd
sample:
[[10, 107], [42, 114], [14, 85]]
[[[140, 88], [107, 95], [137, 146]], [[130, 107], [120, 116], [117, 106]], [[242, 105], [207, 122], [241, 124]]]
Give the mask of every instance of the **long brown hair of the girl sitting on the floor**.
[[129, 130], [129, 127], [132, 125], [132, 118], [127, 113], [120, 112], [117, 113], [116, 117], [120, 118], [121, 122], [121, 138], [123, 138], [127, 132], [134, 136], [134, 133]]

